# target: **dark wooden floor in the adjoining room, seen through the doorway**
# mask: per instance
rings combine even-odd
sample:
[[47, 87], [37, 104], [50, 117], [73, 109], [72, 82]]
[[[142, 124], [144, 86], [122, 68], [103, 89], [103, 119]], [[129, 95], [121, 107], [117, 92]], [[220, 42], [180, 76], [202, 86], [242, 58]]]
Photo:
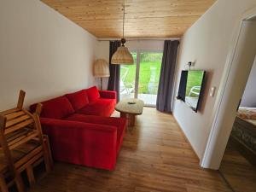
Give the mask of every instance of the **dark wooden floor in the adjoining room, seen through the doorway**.
[[219, 171], [236, 192], [256, 192], [256, 167], [229, 141]]

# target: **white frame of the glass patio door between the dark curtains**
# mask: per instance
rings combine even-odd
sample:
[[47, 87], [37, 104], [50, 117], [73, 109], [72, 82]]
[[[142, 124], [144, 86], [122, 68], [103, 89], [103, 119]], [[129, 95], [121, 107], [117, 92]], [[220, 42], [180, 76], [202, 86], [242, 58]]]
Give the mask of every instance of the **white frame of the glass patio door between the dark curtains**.
[[[135, 75], [135, 86], [134, 86], [134, 98], [138, 98], [138, 89], [139, 89], [139, 78], [140, 78], [140, 65], [141, 65], [141, 56], [143, 52], [149, 53], [163, 53], [164, 49], [131, 49], [131, 52], [137, 53], [136, 61], [136, 75]], [[155, 105], [144, 104], [145, 107], [155, 107]]]

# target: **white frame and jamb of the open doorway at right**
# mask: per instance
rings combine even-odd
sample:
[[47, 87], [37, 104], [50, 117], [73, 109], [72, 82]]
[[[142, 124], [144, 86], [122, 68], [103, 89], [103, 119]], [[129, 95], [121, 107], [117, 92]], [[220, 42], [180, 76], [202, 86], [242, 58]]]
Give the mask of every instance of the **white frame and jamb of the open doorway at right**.
[[212, 129], [201, 166], [218, 169], [236, 119], [236, 109], [247, 85], [256, 54], [256, 21], [248, 20], [256, 8], [241, 17], [213, 111]]

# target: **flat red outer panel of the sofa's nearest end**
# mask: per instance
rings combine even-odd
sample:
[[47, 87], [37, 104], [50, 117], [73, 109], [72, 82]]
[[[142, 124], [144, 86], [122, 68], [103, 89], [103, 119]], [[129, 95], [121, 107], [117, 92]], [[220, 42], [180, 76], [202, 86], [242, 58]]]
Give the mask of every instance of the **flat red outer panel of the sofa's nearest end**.
[[117, 127], [62, 119], [40, 118], [55, 160], [113, 170]]

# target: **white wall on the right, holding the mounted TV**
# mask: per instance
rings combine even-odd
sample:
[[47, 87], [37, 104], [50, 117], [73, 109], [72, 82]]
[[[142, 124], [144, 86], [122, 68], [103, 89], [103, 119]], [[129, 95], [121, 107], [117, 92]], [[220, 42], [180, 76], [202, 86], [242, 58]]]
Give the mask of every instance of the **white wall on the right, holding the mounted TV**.
[[176, 92], [181, 70], [188, 61], [195, 61], [193, 68], [207, 71], [207, 84], [198, 113], [183, 102], [175, 101], [173, 115], [200, 159], [207, 145], [216, 99], [216, 96], [209, 96], [209, 90], [215, 86], [218, 91], [232, 35], [236, 32], [241, 15], [255, 6], [255, 0], [218, 0], [183, 35], [177, 61]]

